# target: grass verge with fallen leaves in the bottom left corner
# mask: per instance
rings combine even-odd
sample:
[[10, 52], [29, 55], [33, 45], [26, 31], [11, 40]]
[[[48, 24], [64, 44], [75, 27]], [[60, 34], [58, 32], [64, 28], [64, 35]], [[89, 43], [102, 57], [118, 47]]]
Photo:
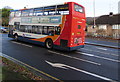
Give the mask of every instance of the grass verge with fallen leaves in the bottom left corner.
[[34, 74], [22, 65], [18, 65], [2, 57], [2, 80], [29, 80], [30, 82], [42, 81], [43, 78]]

